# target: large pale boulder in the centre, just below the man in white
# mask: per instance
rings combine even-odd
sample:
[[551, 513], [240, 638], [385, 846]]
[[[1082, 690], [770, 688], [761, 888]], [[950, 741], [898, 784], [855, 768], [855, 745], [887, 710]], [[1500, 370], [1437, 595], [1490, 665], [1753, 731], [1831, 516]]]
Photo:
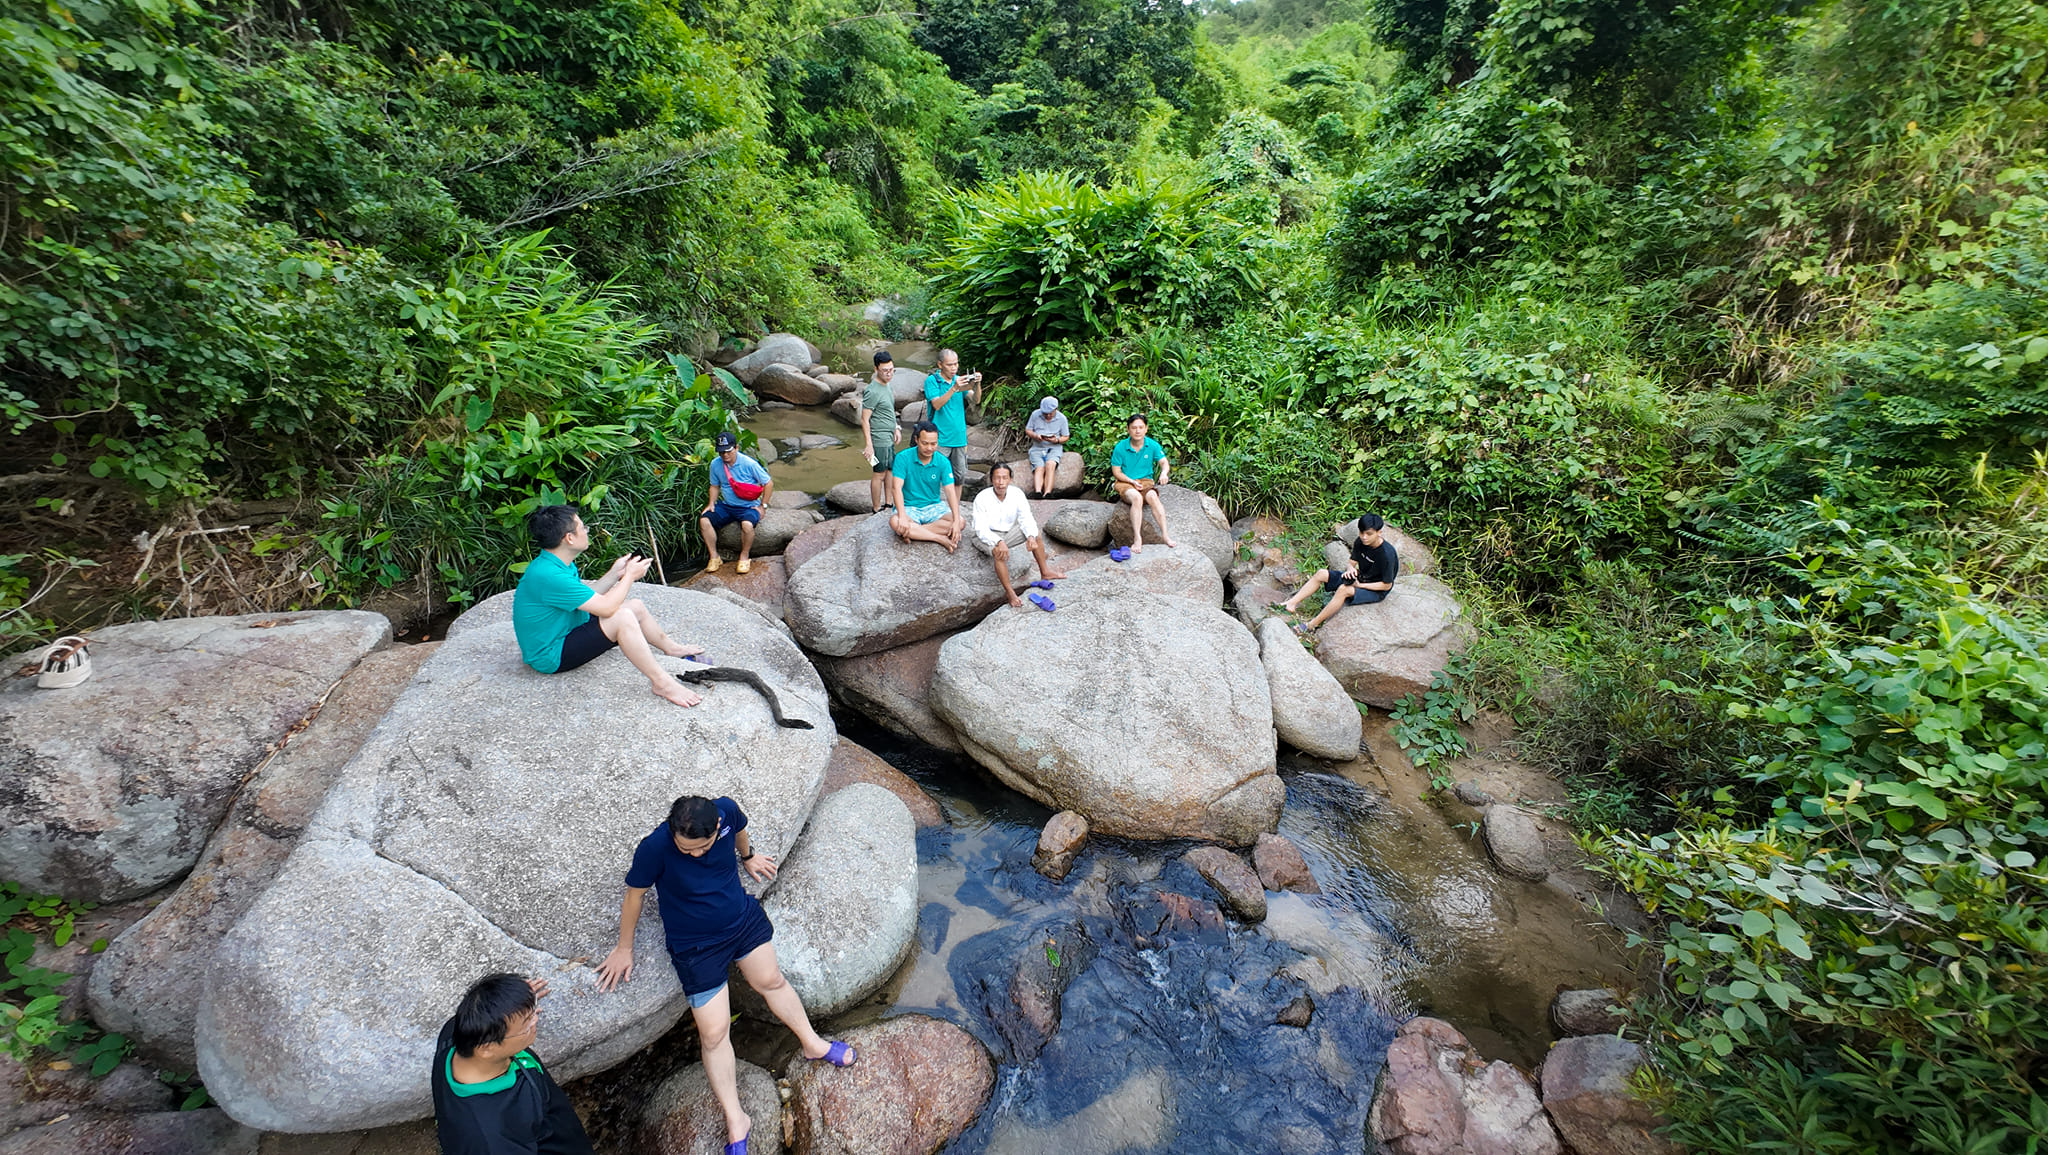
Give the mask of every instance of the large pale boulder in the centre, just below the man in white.
[[1286, 795], [1257, 643], [1212, 604], [1114, 578], [1077, 573], [1057, 612], [946, 641], [932, 707], [975, 762], [1098, 833], [1245, 846]]

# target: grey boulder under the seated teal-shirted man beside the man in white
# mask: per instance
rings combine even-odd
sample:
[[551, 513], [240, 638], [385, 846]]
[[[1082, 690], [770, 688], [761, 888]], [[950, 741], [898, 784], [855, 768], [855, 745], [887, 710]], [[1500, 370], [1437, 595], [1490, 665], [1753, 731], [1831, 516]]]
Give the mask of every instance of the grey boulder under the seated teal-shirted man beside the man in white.
[[[1030, 567], [1030, 551], [1010, 551], [1012, 578]], [[788, 629], [807, 649], [850, 657], [975, 625], [999, 604], [1004, 588], [965, 534], [946, 553], [930, 541], [905, 543], [889, 518], [868, 516], [791, 578]]]

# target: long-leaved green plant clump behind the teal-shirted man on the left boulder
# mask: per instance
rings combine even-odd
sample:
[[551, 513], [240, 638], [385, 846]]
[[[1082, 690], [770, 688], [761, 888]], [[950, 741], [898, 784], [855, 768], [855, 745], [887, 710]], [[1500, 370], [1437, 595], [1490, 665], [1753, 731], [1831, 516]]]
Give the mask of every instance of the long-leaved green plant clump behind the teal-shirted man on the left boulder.
[[328, 498], [319, 541], [342, 590], [440, 584], [465, 602], [516, 582], [524, 518], [571, 502], [594, 561], [690, 543], [698, 463], [737, 381], [651, 356], [655, 330], [588, 289], [543, 233], [457, 262], [408, 291], [420, 332], [418, 414], [401, 448]]

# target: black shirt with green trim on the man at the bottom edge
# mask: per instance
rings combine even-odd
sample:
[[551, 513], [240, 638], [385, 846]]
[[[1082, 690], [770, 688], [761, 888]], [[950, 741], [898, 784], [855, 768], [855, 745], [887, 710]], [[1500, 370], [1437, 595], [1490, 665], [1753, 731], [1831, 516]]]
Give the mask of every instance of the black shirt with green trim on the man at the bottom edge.
[[475, 1083], [471, 1094], [455, 1094], [449, 1085], [451, 1053], [453, 1018], [440, 1026], [430, 1075], [440, 1155], [592, 1155], [584, 1120], [532, 1051], [520, 1051], [502, 1079]]

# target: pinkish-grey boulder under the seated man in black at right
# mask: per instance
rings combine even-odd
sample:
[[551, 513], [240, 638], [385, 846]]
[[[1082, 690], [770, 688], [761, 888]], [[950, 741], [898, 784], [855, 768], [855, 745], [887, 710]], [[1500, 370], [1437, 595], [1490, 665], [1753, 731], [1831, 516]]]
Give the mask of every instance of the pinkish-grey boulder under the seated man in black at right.
[[1343, 606], [1317, 631], [1315, 655], [1348, 694], [1391, 709], [1427, 690], [1470, 641], [1458, 598], [1436, 578], [1399, 578], [1384, 602]]

